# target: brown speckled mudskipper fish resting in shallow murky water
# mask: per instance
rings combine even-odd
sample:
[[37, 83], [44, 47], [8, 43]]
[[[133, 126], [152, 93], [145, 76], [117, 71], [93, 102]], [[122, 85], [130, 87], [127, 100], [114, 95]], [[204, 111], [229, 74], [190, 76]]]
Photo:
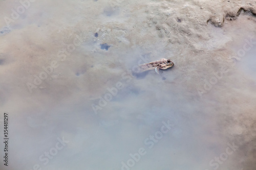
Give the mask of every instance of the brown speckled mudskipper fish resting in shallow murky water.
[[159, 74], [159, 69], [167, 69], [173, 65], [174, 62], [170, 61], [170, 59], [162, 58], [155, 62], [139, 65], [139, 72], [155, 69], [157, 74]]

